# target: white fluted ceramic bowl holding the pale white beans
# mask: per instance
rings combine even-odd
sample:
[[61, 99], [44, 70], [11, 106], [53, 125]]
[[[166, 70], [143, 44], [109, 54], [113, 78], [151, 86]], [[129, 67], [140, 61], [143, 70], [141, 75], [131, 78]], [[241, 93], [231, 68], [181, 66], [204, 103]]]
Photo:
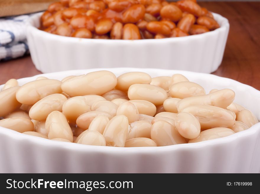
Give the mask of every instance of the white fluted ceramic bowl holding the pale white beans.
[[[62, 79], [91, 71], [75, 70], [43, 74]], [[260, 119], [260, 91], [232, 79], [211, 74], [163, 69], [106, 69], [119, 76], [129, 71], [143, 71], [155, 76], [183, 74], [201, 84], [206, 92], [230, 88], [235, 102], [251, 110]], [[37, 76], [19, 79], [19, 84]], [[0, 86], [0, 89], [3, 87]], [[260, 123], [231, 136], [193, 144], [164, 147], [119, 148], [87, 146], [28, 136], [0, 127], [0, 172], [33, 173], [259, 173]]]

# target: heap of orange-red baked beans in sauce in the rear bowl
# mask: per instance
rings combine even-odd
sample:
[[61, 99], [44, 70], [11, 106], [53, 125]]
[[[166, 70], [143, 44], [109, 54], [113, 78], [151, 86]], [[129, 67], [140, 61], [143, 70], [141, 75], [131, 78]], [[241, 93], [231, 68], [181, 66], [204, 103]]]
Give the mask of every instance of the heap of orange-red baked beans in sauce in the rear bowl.
[[172, 38], [220, 27], [196, 0], [60, 0], [40, 20], [45, 32], [94, 39]]

